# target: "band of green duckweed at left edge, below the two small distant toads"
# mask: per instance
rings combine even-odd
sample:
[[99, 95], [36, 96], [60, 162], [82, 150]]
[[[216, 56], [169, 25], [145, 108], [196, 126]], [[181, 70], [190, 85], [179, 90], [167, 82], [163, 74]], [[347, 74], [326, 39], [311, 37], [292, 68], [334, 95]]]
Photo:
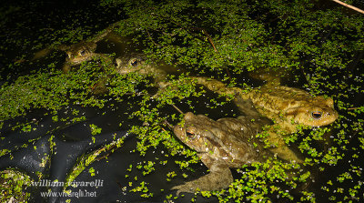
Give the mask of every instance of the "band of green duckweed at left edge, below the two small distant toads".
[[[108, 82], [113, 68], [114, 66], [108, 63], [99, 65], [91, 62], [68, 74], [64, 74], [59, 68], [52, 68], [33, 75], [19, 76], [14, 83], [1, 86], [2, 97], [12, 99], [0, 101], [0, 119], [23, 116], [30, 108], [59, 110], [69, 104], [104, 107], [107, 100], [97, 97], [94, 89]], [[136, 86], [125, 80], [117, 85], [119, 96], [134, 90]]]

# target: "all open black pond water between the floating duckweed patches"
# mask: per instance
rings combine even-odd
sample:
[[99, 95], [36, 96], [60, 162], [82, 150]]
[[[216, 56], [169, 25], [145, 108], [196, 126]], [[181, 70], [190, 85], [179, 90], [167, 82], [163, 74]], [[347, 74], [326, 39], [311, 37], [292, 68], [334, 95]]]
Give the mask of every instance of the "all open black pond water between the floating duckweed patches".
[[[22, 4], [26, 6], [21, 6]], [[39, 69], [62, 68], [66, 54], [59, 50], [51, 52], [38, 61], [30, 61], [30, 58], [36, 51], [53, 45], [55, 41], [67, 45], [74, 44], [94, 36], [107, 25], [126, 18], [122, 8], [97, 6], [96, 1], [91, 1], [91, 3], [89, 1], [69, 1], [68, 4], [51, 1], [39, 3], [19, 1], [13, 5], [6, 5], [6, 8], [13, 9], [13, 15], [4, 15], [5, 17], [0, 18], [3, 19], [1, 27], [9, 29], [7, 32], [2, 32], [3, 34], [0, 36], [0, 40], [5, 42], [0, 55], [0, 85], [14, 82], [18, 76], [34, 74]], [[5, 10], [2, 9], [2, 11]], [[69, 29], [75, 32], [66, 36], [65, 33]], [[141, 43], [111, 33], [106, 39], [97, 43], [96, 53], [115, 54], [114, 58], [116, 58], [140, 52], [141, 48]], [[164, 63], [157, 64], [157, 66], [172, 75], [179, 76], [184, 73], [183, 68], [177, 69]], [[244, 74], [239, 78], [238, 83], [246, 82], [252, 86], [262, 84]], [[301, 84], [293, 83], [288, 79], [285, 81], [285, 85], [300, 86]], [[136, 86], [136, 92], [140, 92], [143, 88], [147, 88], [150, 90], [149, 92], [155, 92], [153, 87], [143, 85]], [[239, 115], [238, 107], [232, 102], [216, 107], [216, 104], [225, 102], [226, 99], [211, 91], [206, 91], [207, 93], [202, 98], [192, 96], [189, 100], [177, 102], [176, 106], [183, 112], [193, 111], [196, 114], [208, 114], [208, 117], [212, 119]], [[138, 102], [142, 100], [142, 95], [124, 96], [123, 101], [117, 101], [111, 96], [105, 97], [108, 101], [103, 108], [69, 105], [58, 110], [56, 118], [51, 111], [30, 109], [25, 117], [1, 121], [3, 127], [0, 131], [0, 149], [7, 149], [11, 153], [0, 157], [0, 170], [17, 168], [34, 178], [35, 182], [43, 181], [44, 183], [44, 181], [54, 180], [66, 182], [66, 178], [75, 169], [81, 157], [92, 155], [118, 138], [124, 139], [122, 147], [118, 147], [113, 153], [107, 150], [102, 152], [73, 180], [80, 184], [95, 181], [97, 186], [67, 188], [74, 196], [88, 194], [91, 196], [90, 198], [57, 197], [59, 195], [45, 198], [43, 196], [46, 196], [45, 193], [49, 191], [48, 189], [60, 194], [62, 188], [41, 186], [27, 188], [27, 191], [31, 193], [30, 202], [66, 202], [66, 199], [71, 199], [71, 202], [190, 202], [191, 198], [195, 198], [196, 202], [218, 202], [218, 199], [214, 197], [203, 198], [201, 195], [193, 194], [185, 194], [184, 197], [168, 200], [170, 195], [176, 196], [176, 191], [169, 189], [186, 181], [186, 178], [182, 178], [180, 174], [186, 174], [188, 180], [199, 178], [207, 174], [207, 167], [199, 162], [190, 166], [190, 170], [181, 170], [176, 161], [187, 161], [187, 157], [170, 156], [167, 147], [162, 147], [162, 145], [149, 148], [146, 155], [141, 156], [136, 150], [139, 139], [127, 131], [133, 126], [147, 125], [137, 117], [130, 118], [131, 112], [139, 110]], [[352, 100], [352, 104], [362, 106], [363, 94], [353, 96]], [[152, 107], [157, 106], [157, 102], [151, 105]], [[165, 107], [160, 113], [162, 116], [178, 115], [174, 107]], [[71, 121], [73, 118], [80, 117], [84, 118], [79, 121]], [[173, 122], [172, 124], [176, 124]], [[31, 130], [24, 130], [24, 127], [29, 127], [29, 125], [22, 126], [23, 123], [29, 124]], [[96, 126], [96, 129], [101, 128], [101, 133], [91, 136], [93, 125]], [[168, 129], [166, 128], [166, 130]], [[308, 134], [309, 131], [306, 133]], [[338, 134], [337, 131], [339, 130], [334, 129], [332, 134]], [[353, 137], [353, 141], [349, 142], [348, 148], [360, 146], [355, 133], [349, 137]], [[319, 143], [317, 145], [322, 147]], [[322, 150], [326, 150], [325, 147], [322, 147]], [[308, 191], [314, 191], [317, 201], [325, 202], [328, 198], [322, 191], [322, 183], [329, 182], [332, 177], [339, 177], [352, 166], [364, 167], [359, 159], [352, 158], [352, 156], [362, 156], [362, 151], [348, 152], [341, 161], [342, 164], [326, 169], [325, 173], [319, 173], [317, 166], [311, 167], [312, 178], [310, 180], [312, 182], [307, 187], [301, 188], [306, 187], [305, 189]], [[158, 164], [146, 167], [154, 162]], [[153, 168], [150, 174], [144, 175], [143, 172], [150, 167]], [[359, 168], [360, 173], [361, 168]], [[167, 180], [173, 171], [179, 173], [179, 176]], [[43, 175], [39, 179], [40, 173]], [[240, 178], [242, 175], [237, 170], [233, 170], [233, 176]], [[355, 184], [355, 181], [351, 182]], [[145, 183], [149, 189], [147, 191], [143, 191]], [[347, 188], [352, 187], [352, 184], [347, 184]], [[141, 186], [140, 191], [131, 191], [131, 188], [136, 188], [138, 185]], [[298, 193], [296, 190], [299, 189], [299, 187], [292, 189], [292, 194], [295, 196]], [[141, 194], [151, 193], [152, 197], [141, 197]], [[281, 201], [277, 197], [270, 198], [277, 202]]]

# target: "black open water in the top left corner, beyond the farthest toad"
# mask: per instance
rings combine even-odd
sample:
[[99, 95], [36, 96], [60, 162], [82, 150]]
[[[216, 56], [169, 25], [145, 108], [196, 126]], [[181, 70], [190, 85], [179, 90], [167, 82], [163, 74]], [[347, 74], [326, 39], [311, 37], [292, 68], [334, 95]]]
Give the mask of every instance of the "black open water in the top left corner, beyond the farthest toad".
[[[52, 45], [59, 39], [62, 44], [73, 44], [126, 17], [122, 9], [104, 8], [95, 0], [5, 0], [1, 4], [2, 80], [14, 80], [17, 76], [38, 70], [46, 65], [45, 62], [62, 61], [61, 58], [66, 58], [66, 55], [53, 52], [44, 58], [43, 63], [26, 63], [36, 51]], [[74, 31], [71, 36], [67, 34], [69, 31]]]

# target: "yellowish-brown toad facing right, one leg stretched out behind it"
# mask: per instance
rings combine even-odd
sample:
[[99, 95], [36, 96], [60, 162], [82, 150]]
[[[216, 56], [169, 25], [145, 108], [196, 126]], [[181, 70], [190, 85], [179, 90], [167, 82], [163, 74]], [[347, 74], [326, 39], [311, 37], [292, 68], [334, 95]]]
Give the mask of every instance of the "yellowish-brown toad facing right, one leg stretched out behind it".
[[197, 84], [207, 86], [218, 94], [250, 99], [261, 115], [275, 122], [275, 125], [268, 127], [267, 139], [272, 144], [270, 150], [286, 160], [302, 162], [293, 151], [288, 150], [284, 137], [278, 134], [295, 133], [298, 125], [327, 126], [338, 118], [332, 98], [311, 96], [298, 88], [280, 86], [279, 81], [246, 91], [238, 87], [228, 87], [207, 77], [193, 79]]

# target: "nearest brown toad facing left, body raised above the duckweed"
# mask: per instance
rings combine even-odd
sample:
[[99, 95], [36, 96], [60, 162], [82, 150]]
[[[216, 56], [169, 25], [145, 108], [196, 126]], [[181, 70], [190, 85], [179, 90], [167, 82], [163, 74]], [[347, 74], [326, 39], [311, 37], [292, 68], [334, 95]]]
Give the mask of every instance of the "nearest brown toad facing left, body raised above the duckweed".
[[179, 195], [195, 192], [197, 188], [208, 191], [227, 188], [233, 182], [230, 167], [264, 162], [272, 157], [255, 139], [265, 124], [265, 121], [251, 121], [250, 117], [224, 117], [215, 121], [204, 115], [185, 114], [184, 122], [174, 127], [174, 133], [197, 151], [209, 174], [171, 189], [177, 189]]

